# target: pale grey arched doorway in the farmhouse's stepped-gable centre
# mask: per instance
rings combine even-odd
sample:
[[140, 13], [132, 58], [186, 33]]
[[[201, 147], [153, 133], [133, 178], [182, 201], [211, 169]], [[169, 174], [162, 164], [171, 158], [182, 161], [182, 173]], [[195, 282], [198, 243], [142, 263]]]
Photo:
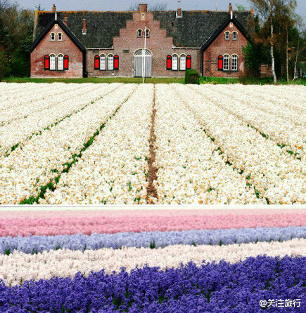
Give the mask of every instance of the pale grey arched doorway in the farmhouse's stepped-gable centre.
[[152, 76], [152, 53], [147, 49], [134, 52], [134, 77], [143, 77], [143, 71], [145, 71], [145, 77]]

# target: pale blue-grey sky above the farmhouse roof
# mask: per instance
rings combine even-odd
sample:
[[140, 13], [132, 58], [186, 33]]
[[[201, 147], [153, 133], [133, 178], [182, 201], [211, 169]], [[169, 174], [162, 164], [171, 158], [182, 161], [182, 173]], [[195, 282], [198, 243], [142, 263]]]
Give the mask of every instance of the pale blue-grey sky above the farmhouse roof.
[[[1, 1], [1, 0], [0, 0]], [[58, 11], [127, 11], [133, 4], [167, 4], [168, 10], [177, 8], [177, 0], [11, 0], [17, 2], [23, 8], [32, 8], [41, 5], [45, 11], [51, 11], [53, 4], [56, 4]], [[248, 0], [181, 0], [182, 10], [215, 10], [226, 11], [229, 9], [229, 2], [236, 8], [236, 5], [245, 6], [250, 9]], [[306, 0], [297, 0], [298, 8], [296, 13], [306, 21]]]

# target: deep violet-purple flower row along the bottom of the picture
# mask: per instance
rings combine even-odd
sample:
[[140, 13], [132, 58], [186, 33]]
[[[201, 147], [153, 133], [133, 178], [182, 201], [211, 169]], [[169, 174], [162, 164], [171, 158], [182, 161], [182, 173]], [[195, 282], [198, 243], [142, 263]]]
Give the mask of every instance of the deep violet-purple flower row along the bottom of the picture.
[[[135, 268], [129, 274], [101, 270], [84, 277], [0, 280], [0, 312], [261, 312], [260, 300], [299, 300], [286, 312], [305, 312], [306, 258], [257, 256], [229, 262], [193, 262], [179, 268]], [[271, 312], [269, 309], [267, 310]], [[284, 312], [273, 307], [273, 312]]]

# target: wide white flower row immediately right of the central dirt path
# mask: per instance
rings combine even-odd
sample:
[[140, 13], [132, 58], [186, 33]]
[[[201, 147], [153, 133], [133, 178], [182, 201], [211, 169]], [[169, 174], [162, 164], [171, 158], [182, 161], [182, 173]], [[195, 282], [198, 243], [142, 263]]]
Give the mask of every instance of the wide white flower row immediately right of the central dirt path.
[[194, 114], [170, 85], [156, 86], [156, 161], [160, 204], [266, 204], [225, 164]]

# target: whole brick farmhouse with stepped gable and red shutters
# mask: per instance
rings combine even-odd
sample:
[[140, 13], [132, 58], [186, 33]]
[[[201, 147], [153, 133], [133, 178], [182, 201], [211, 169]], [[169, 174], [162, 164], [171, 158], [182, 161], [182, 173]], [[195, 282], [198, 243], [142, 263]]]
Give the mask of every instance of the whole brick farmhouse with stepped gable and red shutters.
[[[253, 11], [36, 11], [32, 77], [238, 77]], [[146, 45], [146, 49], [144, 49]]]

